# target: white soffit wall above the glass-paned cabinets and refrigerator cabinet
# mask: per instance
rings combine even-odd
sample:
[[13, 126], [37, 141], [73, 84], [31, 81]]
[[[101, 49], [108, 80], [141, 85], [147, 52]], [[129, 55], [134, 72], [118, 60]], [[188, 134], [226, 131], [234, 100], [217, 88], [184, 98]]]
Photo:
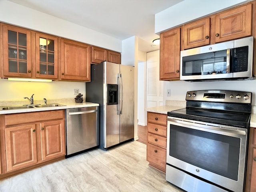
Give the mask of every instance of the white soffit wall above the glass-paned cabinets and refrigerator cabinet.
[[122, 52], [119, 39], [7, 0], [0, 0], [0, 22]]

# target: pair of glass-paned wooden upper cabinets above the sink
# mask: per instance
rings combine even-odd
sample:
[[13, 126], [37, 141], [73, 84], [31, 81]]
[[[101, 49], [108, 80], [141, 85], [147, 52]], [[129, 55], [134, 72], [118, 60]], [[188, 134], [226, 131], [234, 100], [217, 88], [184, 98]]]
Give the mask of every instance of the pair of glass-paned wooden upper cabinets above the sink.
[[58, 78], [58, 38], [1, 24], [3, 77]]

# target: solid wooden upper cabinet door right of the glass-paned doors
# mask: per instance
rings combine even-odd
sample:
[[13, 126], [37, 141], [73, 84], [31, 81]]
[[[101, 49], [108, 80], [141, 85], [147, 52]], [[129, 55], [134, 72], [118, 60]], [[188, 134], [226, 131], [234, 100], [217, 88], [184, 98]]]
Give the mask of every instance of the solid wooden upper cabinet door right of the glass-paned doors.
[[90, 81], [90, 45], [62, 38], [60, 40], [60, 58], [60, 80]]

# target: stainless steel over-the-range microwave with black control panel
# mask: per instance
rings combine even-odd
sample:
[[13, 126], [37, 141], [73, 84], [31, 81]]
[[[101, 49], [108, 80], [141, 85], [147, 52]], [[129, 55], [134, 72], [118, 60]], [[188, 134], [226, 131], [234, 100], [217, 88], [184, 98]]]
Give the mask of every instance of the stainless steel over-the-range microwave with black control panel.
[[180, 52], [180, 80], [253, 79], [254, 38], [247, 37]]

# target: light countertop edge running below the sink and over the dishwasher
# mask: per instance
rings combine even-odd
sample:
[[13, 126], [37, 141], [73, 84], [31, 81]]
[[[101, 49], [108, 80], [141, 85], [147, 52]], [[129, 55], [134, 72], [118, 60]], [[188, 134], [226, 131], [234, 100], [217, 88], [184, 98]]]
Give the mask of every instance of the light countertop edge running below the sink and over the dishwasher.
[[64, 106], [58, 107], [42, 107], [42, 108], [29, 108], [29, 109], [17, 109], [17, 110], [0, 110], [0, 114], [14, 114], [14, 113], [25, 113], [25, 112], [38, 112], [38, 111], [50, 111], [50, 110], [61, 110], [70, 108], [81, 108], [81, 107], [94, 107], [99, 106], [98, 103], [84, 102], [84, 103], [59, 103]]

